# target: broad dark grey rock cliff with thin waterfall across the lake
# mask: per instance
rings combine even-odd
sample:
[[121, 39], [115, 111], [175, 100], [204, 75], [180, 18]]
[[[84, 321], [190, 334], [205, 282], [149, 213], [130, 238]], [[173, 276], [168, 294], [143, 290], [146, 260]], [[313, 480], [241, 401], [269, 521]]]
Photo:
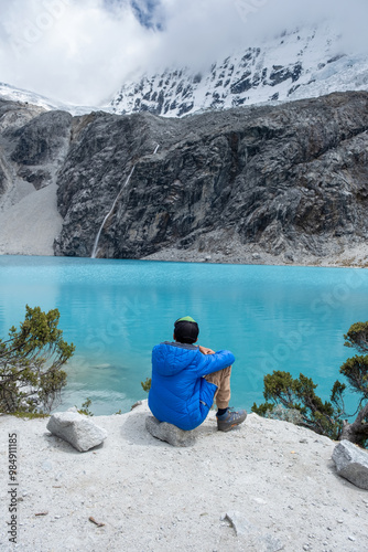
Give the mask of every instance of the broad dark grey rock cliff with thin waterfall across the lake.
[[101, 230], [100, 257], [323, 256], [368, 238], [367, 130], [362, 92], [182, 119], [51, 112], [2, 140], [19, 178], [57, 182], [56, 255], [90, 256]]

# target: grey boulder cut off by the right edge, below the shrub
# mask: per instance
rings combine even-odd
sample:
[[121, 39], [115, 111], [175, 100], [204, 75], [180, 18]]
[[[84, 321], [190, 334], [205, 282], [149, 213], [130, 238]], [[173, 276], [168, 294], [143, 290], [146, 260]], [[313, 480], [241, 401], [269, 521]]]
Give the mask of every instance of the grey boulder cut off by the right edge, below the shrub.
[[339, 476], [368, 490], [368, 453], [349, 440], [342, 440], [334, 448], [333, 460]]

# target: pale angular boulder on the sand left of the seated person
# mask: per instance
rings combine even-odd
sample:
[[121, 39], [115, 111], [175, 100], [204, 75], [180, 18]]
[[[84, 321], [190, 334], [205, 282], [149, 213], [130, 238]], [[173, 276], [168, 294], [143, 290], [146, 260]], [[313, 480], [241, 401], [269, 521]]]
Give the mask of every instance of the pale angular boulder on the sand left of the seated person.
[[80, 453], [100, 445], [107, 437], [106, 429], [76, 411], [56, 412], [51, 416], [47, 429]]

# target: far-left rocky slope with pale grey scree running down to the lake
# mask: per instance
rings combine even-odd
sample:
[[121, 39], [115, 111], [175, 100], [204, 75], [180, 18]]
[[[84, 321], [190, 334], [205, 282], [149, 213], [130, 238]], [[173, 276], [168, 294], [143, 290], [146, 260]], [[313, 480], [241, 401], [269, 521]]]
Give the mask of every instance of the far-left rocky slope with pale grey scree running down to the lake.
[[66, 113], [0, 99], [0, 254], [53, 255], [63, 222], [56, 173], [71, 123]]

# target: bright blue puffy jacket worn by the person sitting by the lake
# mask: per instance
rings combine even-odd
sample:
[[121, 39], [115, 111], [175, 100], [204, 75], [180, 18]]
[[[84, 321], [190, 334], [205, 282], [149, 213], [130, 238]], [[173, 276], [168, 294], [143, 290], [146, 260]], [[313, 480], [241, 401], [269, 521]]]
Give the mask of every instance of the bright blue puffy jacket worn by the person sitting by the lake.
[[229, 367], [230, 351], [203, 354], [186, 343], [160, 343], [152, 351], [149, 406], [160, 422], [194, 429], [206, 418], [217, 386], [203, 376]]

